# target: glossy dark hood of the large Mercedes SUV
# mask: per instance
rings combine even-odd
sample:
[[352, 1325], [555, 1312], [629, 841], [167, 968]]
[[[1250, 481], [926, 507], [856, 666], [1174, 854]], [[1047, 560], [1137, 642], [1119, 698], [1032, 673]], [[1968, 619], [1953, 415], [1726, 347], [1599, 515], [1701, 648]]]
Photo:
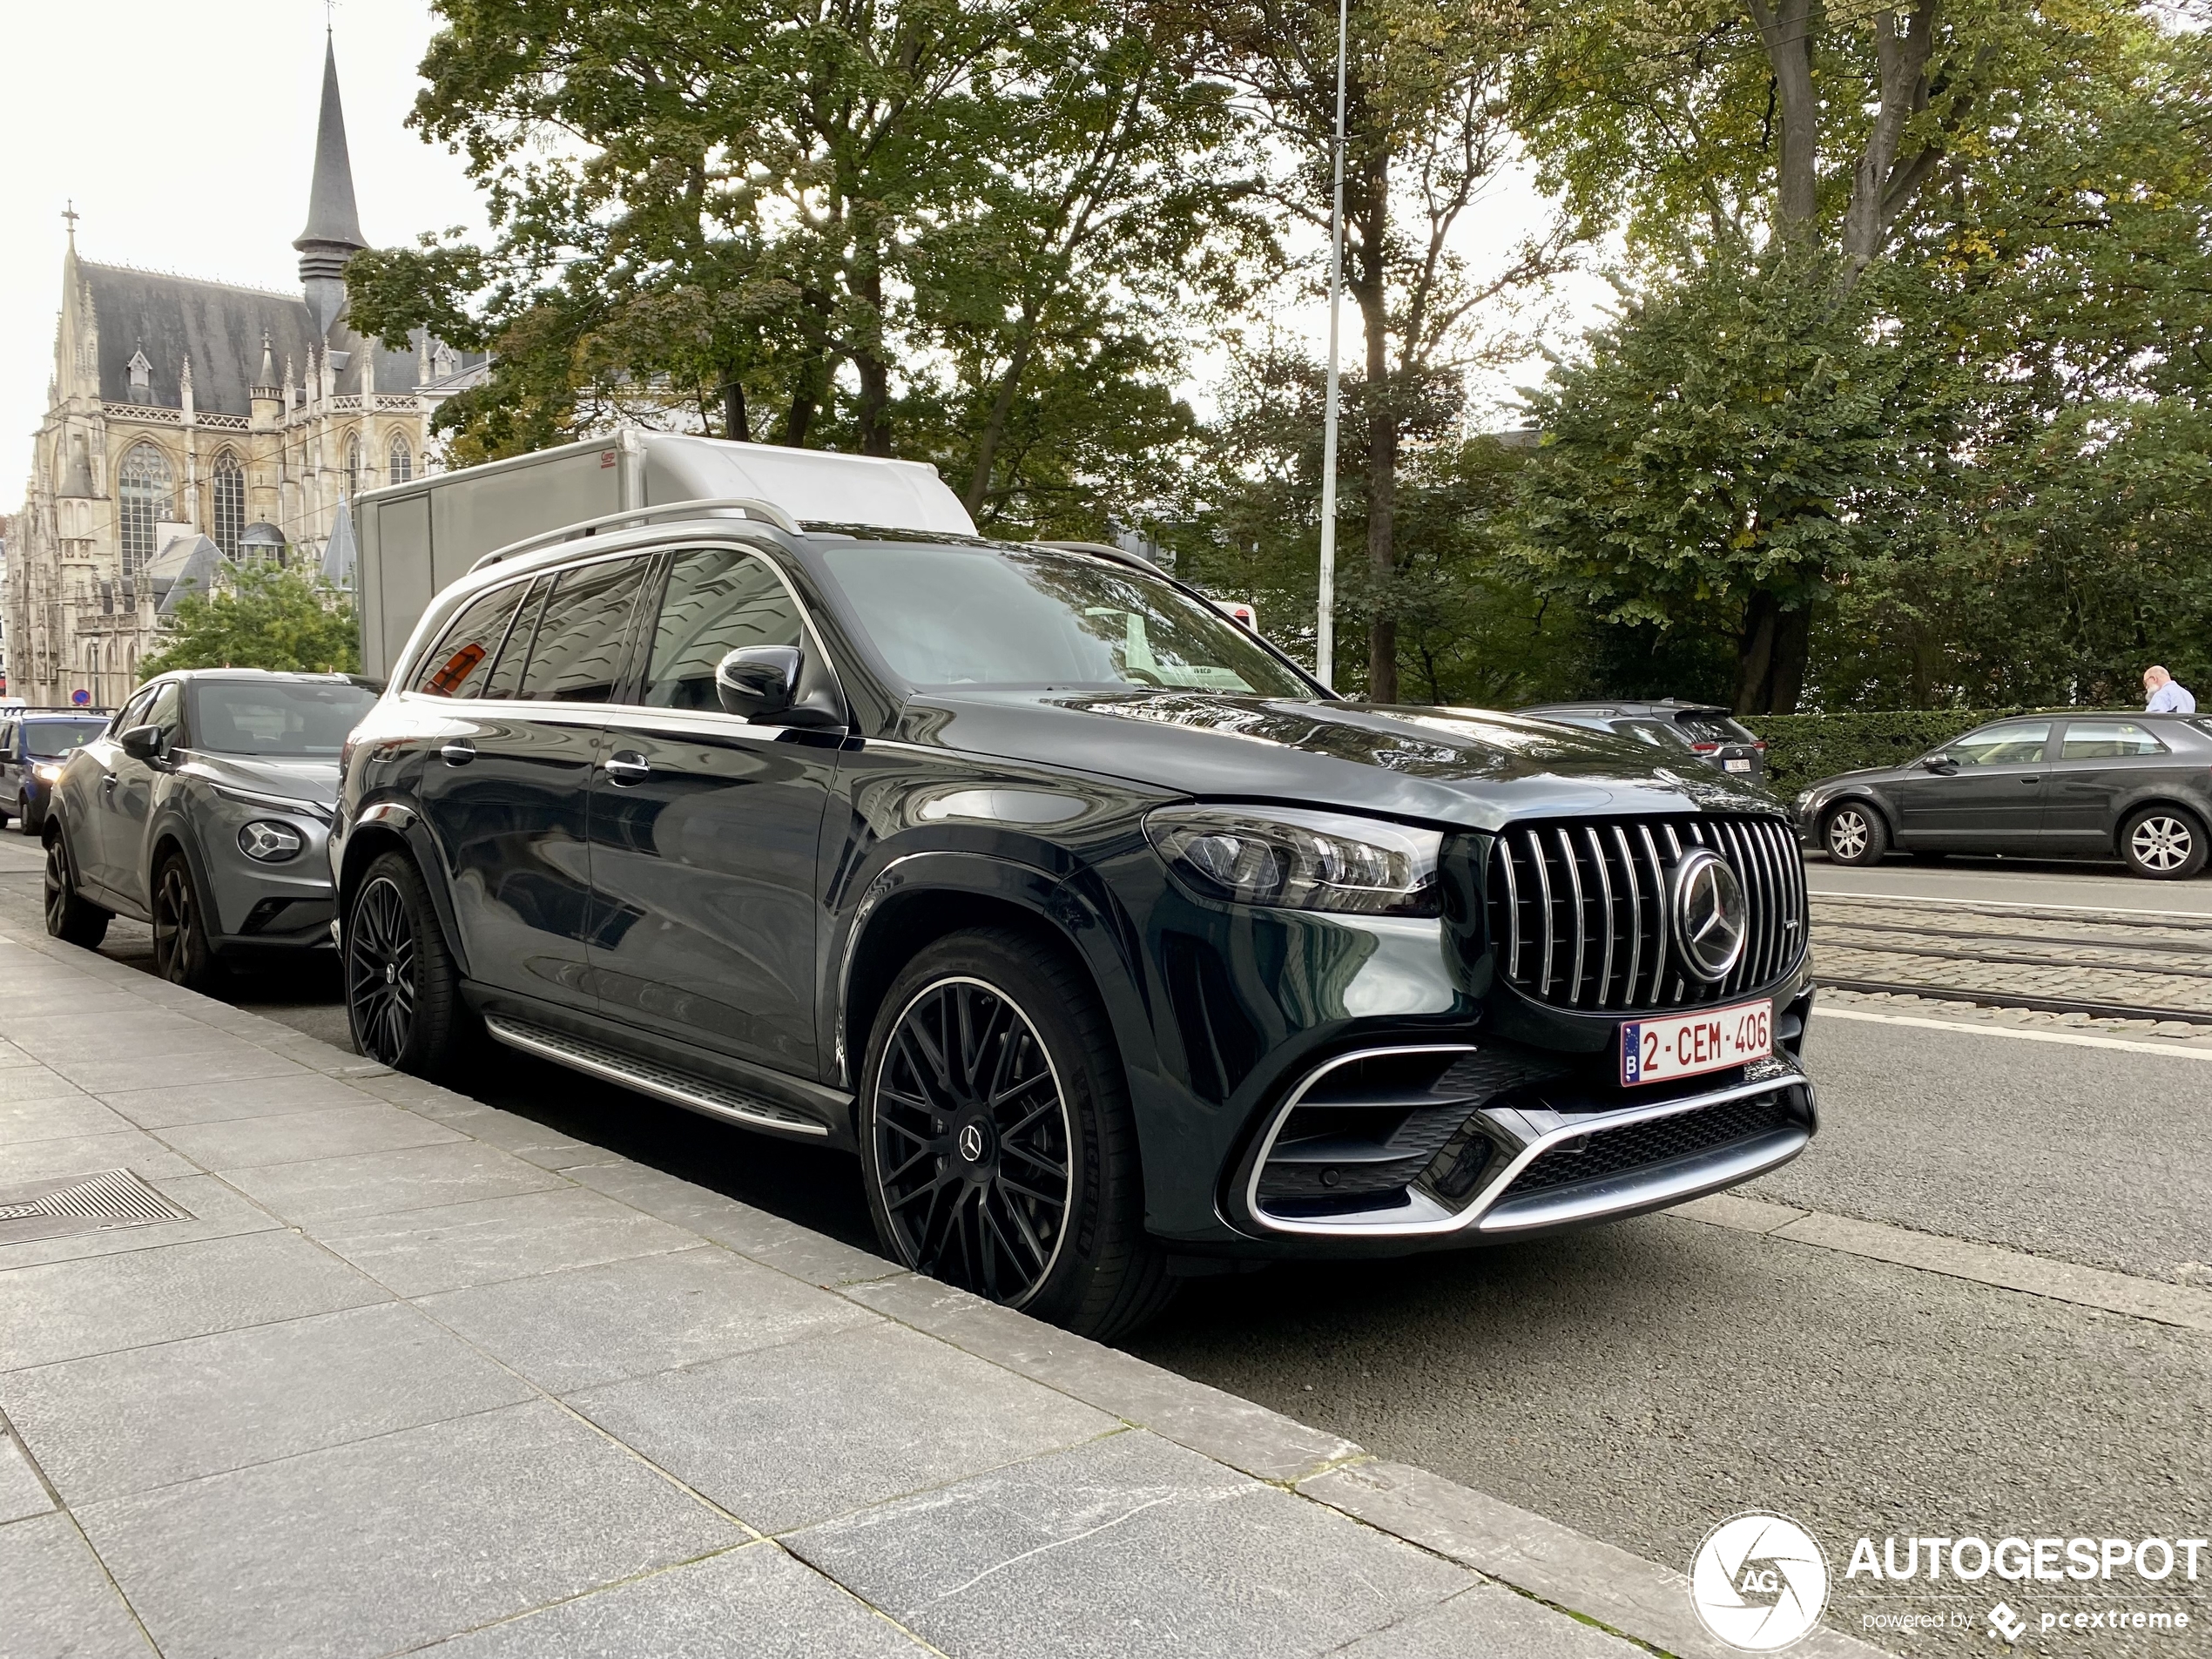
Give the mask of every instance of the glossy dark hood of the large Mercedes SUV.
[[1279, 801], [1495, 830], [1553, 814], [1778, 812], [1683, 757], [1478, 708], [1276, 701], [1181, 690], [929, 695], [898, 737], [1077, 765], [1217, 801]]

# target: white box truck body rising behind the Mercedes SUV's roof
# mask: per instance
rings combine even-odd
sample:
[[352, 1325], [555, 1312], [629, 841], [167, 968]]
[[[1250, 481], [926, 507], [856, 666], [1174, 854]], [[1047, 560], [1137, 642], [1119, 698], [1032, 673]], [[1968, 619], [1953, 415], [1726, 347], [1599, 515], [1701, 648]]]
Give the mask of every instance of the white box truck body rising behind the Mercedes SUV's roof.
[[975, 533], [929, 462], [675, 431], [626, 429], [429, 473], [374, 489], [354, 504], [361, 672], [383, 679], [431, 597], [484, 553], [611, 513], [730, 498], [763, 500], [796, 520]]

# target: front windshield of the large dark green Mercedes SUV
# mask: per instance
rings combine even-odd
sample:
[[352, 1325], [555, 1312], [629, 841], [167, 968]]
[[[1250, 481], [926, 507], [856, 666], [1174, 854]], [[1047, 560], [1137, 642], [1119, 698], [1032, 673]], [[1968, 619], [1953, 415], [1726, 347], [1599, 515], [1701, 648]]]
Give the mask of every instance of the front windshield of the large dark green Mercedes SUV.
[[1088, 553], [860, 542], [823, 562], [914, 686], [1316, 695], [1203, 599]]

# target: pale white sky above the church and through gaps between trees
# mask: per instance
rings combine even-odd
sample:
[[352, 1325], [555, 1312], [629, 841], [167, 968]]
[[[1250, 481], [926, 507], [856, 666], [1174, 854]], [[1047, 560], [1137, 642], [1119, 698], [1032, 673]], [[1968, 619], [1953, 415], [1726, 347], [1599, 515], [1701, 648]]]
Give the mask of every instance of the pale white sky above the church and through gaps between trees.
[[[0, 223], [11, 228], [0, 239], [0, 511], [22, 500], [46, 409], [66, 206], [84, 259], [299, 290], [292, 239], [307, 219], [325, 18], [363, 234], [394, 246], [447, 226], [480, 232], [460, 157], [405, 126], [434, 33], [427, 0], [0, 0]], [[1502, 181], [1467, 232], [1506, 241], [1540, 212], [1524, 181]], [[1564, 314], [1588, 321], [1597, 303], [1582, 279]], [[1325, 307], [1274, 316], [1318, 352]], [[1352, 358], [1349, 307], [1345, 323]], [[1217, 349], [1190, 363], [1201, 411], [1221, 367]], [[1486, 376], [1478, 396], [1540, 376], [1528, 361]], [[1498, 425], [1515, 420], [1500, 411]]]

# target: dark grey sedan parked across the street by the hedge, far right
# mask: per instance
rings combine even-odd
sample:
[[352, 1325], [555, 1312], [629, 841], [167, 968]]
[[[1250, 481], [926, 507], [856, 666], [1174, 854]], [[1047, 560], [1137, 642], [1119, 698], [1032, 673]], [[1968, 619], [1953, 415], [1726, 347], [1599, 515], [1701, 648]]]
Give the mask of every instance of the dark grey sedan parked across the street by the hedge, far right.
[[1911, 765], [1823, 779], [1796, 799], [1798, 832], [1838, 865], [1891, 847], [2119, 856], [2137, 876], [2205, 867], [2212, 719], [2066, 710], [1978, 726]]

